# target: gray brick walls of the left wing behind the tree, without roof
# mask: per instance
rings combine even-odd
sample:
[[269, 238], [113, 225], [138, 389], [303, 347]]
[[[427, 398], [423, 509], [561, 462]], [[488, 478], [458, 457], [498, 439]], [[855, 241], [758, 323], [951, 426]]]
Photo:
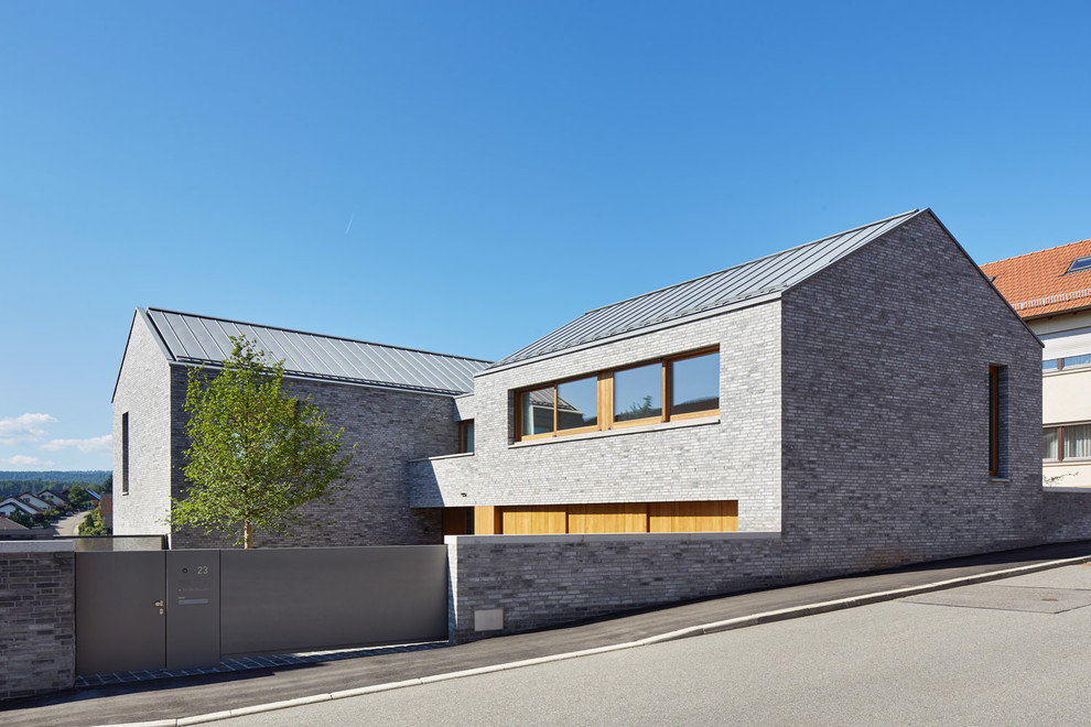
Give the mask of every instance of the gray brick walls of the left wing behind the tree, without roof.
[[[121, 481], [120, 421], [129, 413], [130, 489], [118, 495], [115, 533], [164, 533], [170, 497], [186, 487], [182, 467], [188, 447], [183, 411], [187, 367], [168, 365], [152, 333], [138, 319], [115, 397], [115, 482]], [[342, 491], [306, 506], [321, 528], [295, 536], [257, 533], [255, 545], [417, 545], [442, 541], [438, 510], [410, 509], [408, 462], [455, 452], [458, 430], [453, 398], [412, 391], [290, 379], [291, 394], [311, 398], [326, 422], [344, 427], [342, 443], [358, 444], [357, 474]], [[120, 488], [118, 488], [120, 491]], [[184, 530], [172, 547], [228, 547], [235, 534]]]

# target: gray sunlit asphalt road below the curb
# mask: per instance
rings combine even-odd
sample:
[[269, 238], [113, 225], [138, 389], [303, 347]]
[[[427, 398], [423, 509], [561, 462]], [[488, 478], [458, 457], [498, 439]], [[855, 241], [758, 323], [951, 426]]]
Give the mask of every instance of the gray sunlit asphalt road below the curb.
[[1088, 725], [1091, 565], [217, 723]]

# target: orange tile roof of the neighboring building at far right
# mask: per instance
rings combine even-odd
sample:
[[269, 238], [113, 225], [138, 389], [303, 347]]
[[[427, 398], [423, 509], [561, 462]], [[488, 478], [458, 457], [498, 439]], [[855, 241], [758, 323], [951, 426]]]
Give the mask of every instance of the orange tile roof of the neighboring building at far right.
[[1077, 258], [1091, 256], [1091, 240], [1020, 254], [981, 267], [1020, 317], [1091, 307], [1091, 268], [1067, 272]]

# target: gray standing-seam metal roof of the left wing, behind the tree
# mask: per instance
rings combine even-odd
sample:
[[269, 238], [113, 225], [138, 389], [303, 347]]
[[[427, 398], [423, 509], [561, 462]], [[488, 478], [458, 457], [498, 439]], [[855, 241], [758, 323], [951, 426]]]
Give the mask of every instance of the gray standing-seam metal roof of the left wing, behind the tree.
[[488, 361], [432, 354], [261, 326], [226, 318], [148, 308], [147, 315], [169, 357], [186, 365], [218, 366], [231, 355], [229, 336], [246, 336], [288, 376], [365, 383], [429, 393], [473, 391], [474, 373]]

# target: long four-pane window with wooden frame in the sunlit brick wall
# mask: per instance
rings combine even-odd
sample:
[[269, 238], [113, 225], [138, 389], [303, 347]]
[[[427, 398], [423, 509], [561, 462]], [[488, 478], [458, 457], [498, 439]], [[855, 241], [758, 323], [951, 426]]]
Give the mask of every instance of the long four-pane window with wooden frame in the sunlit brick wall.
[[674, 356], [517, 392], [517, 438], [720, 413], [720, 351]]

